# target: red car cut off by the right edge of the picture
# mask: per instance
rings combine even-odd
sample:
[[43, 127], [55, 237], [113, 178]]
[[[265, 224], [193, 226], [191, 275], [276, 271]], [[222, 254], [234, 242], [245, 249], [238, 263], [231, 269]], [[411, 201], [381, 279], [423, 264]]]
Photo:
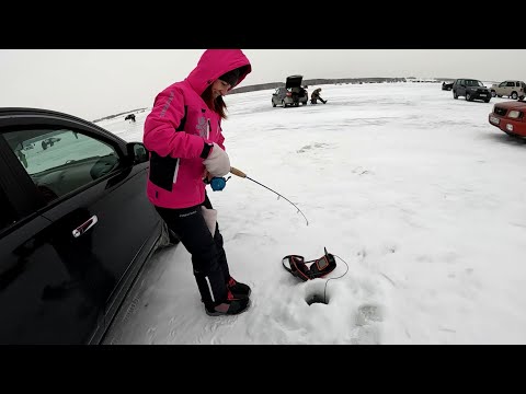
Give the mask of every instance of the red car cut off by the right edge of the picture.
[[512, 101], [493, 105], [488, 115], [490, 125], [511, 137], [526, 137], [526, 102]]

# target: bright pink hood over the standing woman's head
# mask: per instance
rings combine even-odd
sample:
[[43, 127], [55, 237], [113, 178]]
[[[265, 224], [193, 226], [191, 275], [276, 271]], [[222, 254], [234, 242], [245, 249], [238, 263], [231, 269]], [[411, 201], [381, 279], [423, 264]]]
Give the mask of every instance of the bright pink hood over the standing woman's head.
[[186, 81], [192, 85], [195, 92], [201, 95], [208, 85], [213, 84], [224, 73], [247, 66], [239, 76], [232, 90], [252, 71], [249, 59], [241, 49], [206, 49], [201, 56], [197, 66], [186, 77]]

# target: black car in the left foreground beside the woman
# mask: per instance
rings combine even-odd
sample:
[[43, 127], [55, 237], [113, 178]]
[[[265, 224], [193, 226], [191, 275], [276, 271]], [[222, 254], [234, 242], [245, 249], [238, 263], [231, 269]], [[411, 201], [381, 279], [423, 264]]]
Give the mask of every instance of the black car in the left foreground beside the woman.
[[94, 123], [0, 108], [0, 344], [102, 343], [139, 269], [178, 242], [148, 163]]

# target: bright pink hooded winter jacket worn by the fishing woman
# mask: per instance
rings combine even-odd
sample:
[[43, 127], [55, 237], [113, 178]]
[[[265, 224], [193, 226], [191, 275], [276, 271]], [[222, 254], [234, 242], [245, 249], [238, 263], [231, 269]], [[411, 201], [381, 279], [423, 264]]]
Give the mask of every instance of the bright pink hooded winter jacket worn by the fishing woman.
[[[207, 49], [195, 69], [160, 92], [145, 121], [144, 143], [150, 151], [147, 195], [163, 208], [187, 208], [205, 200], [203, 149], [216, 142], [225, 149], [220, 116], [201, 94], [220, 76], [248, 66], [238, 85], [251, 72], [240, 49]], [[231, 86], [230, 89], [232, 89]]]

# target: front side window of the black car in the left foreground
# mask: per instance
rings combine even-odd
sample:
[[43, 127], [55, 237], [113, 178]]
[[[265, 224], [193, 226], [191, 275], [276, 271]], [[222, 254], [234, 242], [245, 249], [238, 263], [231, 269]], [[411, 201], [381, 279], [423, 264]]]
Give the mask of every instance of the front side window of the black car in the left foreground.
[[4, 137], [46, 202], [115, 171], [119, 164], [113, 147], [76, 130], [21, 129]]

